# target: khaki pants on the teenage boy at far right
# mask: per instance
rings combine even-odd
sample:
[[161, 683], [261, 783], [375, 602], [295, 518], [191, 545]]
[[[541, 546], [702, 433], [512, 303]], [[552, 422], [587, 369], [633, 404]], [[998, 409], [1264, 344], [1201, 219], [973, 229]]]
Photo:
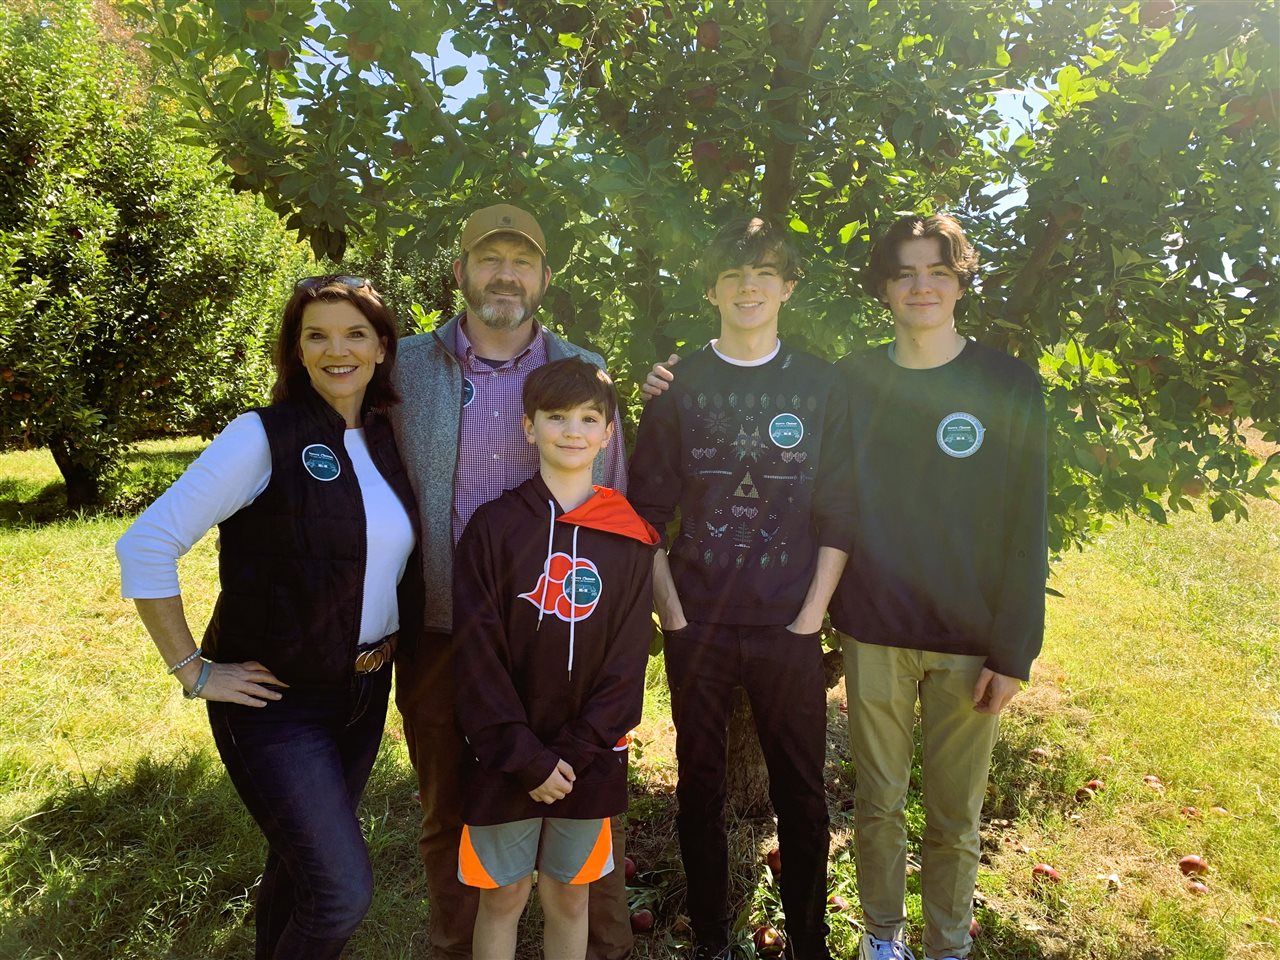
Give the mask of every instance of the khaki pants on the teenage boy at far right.
[[911, 732], [920, 703], [924, 954], [969, 954], [980, 854], [978, 827], [996, 744], [996, 717], [973, 709], [982, 657], [860, 644], [841, 634], [849, 694], [858, 893], [867, 929], [893, 940], [906, 925], [906, 823]]

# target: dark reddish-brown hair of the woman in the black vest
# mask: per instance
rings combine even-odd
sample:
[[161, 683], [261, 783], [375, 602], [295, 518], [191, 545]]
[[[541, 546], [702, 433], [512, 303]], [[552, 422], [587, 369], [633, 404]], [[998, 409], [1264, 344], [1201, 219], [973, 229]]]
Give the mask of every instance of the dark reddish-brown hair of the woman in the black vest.
[[298, 392], [311, 381], [307, 369], [302, 366], [302, 352], [300, 349], [302, 339], [302, 314], [310, 303], [324, 301], [338, 303], [346, 301], [365, 315], [365, 319], [374, 328], [374, 333], [383, 340], [385, 356], [383, 362], [374, 367], [374, 376], [365, 389], [365, 401], [361, 412], [366, 410], [385, 410], [399, 403], [399, 393], [392, 385], [392, 369], [396, 366], [396, 317], [383, 303], [381, 294], [374, 289], [367, 280], [362, 285], [353, 287], [353, 278], [344, 276], [340, 280], [333, 278], [308, 278], [311, 283], [300, 282], [293, 288], [293, 296], [284, 305], [284, 315], [280, 317], [280, 332], [275, 338], [275, 384], [271, 387], [271, 403], [283, 403], [291, 397], [297, 397]]

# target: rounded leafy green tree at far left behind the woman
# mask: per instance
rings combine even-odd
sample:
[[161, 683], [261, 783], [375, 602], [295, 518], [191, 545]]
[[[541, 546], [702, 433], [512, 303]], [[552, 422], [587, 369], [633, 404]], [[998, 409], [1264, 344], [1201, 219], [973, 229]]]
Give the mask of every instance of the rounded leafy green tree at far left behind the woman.
[[210, 433], [261, 397], [303, 261], [207, 150], [173, 141], [110, 20], [0, 10], [0, 447], [47, 445], [73, 508], [129, 442]]

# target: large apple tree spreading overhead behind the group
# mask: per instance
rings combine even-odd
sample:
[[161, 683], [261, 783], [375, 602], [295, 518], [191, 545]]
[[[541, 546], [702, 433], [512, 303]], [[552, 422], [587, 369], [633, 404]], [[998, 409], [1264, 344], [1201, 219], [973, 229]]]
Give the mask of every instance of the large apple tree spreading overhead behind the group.
[[835, 357], [890, 333], [872, 238], [946, 210], [988, 265], [964, 330], [1046, 378], [1056, 550], [1197, 497], [1243, 517], [1274, 484], [1247, 444], [1280, 430], [1271, 0], [129, 9], [182, 123], [317, 253], [434, 256], [470, 209], [522, 202], [553, 321], [636, 379], [709, 333], [717, 221], [790, 223], [809, 262], [783, 324]]

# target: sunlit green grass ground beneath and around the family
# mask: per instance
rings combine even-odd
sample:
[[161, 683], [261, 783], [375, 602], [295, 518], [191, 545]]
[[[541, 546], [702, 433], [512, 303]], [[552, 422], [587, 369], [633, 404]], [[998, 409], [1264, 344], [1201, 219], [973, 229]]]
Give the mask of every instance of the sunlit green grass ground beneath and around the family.
[[[134, 476], [151, 483], [198, 445], [146, 444]], [[180, 698], [119, 598], [111, 547], [128, 521], [32, 522], [56, 500], [45, 453], [0, 456], [0, 956], [246, 956], [261, 837], [221, 774], [204, 710]], [[1064, 596], [1050, 599], [1044, 654], [997, 748], [975, 957], [1280, 955], [1280, 506], [1252, 511], [1240, 525], [1178, 515], [1167, 527], [1116, 526], [1056, 567]], [[202, 623], [212, 538], [183, 559], [182, 577], [188, 617]], [[671, 724], [660, 663], [650, 667], [632, 901], [658, 914], [637, 955], [676, 957], [684, 879]], [[860, 931], [842, 698], [837, 686], [831, 886], [854, 909], [831, 923], [836, 955], [849, 957]], [[428, 952], [417, 808], [394, 716], [388, 733], [364, 808], [378, 895], [347, 954], [361, 960]], [[1092, 777], [1105, 788], [1078, 803]], [[910, 815], [919, 819], [918, 805]], [[760, 863], [774, 842], [772, 820], [735, 824], [745, 937], [781, 919]], [[1189, 892], [1178, 870], [1193, 852], [1210, 863], [1207, 895]], [[1062, 881], [1033, 882], [1039, 861]], [[521, 955], [536, 956], [535, 945]], [[754, 955], [749, 942], [741, 955]]]

